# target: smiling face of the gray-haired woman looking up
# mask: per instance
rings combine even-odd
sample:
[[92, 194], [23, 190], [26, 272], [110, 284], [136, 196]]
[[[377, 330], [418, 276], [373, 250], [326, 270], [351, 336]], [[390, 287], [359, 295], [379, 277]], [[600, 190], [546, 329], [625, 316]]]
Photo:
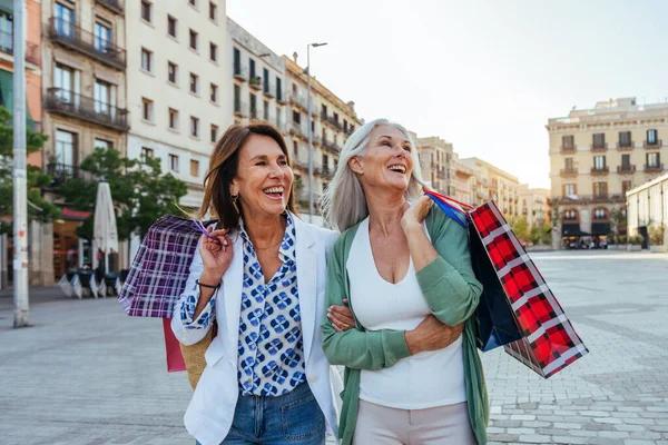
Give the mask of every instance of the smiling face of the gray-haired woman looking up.
[[409, 188], [413, 172], [411, 142], [399, 128], [380, 125], [370, 135], [363, 157], [353, 158], [350, 167], [360, 176], [364, 188], [401, 191]]

